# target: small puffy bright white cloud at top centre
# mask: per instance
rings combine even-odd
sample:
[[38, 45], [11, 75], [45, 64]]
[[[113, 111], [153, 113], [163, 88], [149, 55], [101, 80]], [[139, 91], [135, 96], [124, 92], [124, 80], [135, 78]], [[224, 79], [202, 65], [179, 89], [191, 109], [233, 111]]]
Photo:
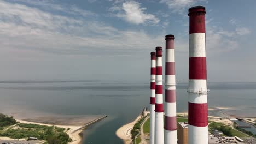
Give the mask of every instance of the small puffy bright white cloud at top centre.
[[147, 14], [146, 8], [141, 7], [141, 3], [127, 1], [122, 5], [114, 5], [110, 11], [117, 11], [115, 16], [121, 17], [127, 22], [139, 25], [156, 25], [160, 20], [153, 14]]

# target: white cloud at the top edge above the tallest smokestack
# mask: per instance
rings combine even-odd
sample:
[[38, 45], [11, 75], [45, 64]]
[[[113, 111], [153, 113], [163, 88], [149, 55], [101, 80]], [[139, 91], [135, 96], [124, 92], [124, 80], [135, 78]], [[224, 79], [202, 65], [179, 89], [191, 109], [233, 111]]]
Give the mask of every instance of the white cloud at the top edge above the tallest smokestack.
[[197, 2], [206, 0], [161, 0], [160, 3], [166, 3], [173, 13], [183, 13], [188, 7], [193, 7]]

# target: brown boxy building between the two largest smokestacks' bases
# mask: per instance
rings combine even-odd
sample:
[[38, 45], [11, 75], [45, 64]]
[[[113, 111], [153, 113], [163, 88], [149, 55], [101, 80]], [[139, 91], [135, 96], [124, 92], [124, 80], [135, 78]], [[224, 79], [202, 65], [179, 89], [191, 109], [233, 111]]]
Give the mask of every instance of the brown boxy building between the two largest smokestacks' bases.
[[178, 128], [178, 144], [188, 144], [188, 123], [181, 122], [177, 125]]

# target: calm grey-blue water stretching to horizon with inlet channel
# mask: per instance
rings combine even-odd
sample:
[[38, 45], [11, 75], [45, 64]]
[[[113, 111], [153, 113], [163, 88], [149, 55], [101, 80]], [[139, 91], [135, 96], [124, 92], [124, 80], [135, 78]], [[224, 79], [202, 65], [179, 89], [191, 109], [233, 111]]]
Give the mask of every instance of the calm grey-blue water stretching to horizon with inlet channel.
[[[209, 107], [256, 115], [256, 83], [209, 83]], [[177, 111], [187, 111], [187, 85], [177, 85]], [[149, 107], [149, 83], [102, 81], [0, 81], [0, 112], [108, 115], [84, 131], [84, 143], [122, 143], [115, 131]]]

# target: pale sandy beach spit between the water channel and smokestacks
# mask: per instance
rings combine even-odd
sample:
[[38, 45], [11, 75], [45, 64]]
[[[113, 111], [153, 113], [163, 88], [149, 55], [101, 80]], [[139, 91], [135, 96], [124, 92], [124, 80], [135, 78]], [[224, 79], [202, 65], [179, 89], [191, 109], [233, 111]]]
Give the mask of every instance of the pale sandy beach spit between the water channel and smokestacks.
[[139, 115], [133, 122], [123, 125], [119, 128], [115, 134], [119, 137], [119, 139], [123, 140], [124, 143], [128, 144], [132, 142], [131, 139], [131, 130], [135, 123], [141, 118], [142, 116]]

